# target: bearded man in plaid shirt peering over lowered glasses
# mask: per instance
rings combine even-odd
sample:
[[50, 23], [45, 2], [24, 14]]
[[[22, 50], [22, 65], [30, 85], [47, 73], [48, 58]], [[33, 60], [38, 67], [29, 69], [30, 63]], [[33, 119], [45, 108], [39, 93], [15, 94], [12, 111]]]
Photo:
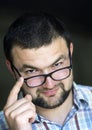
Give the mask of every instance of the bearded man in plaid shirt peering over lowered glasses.
[[0, 130], [92, 130], [91, 88], [73, 82], [73, 43], [63, 23], [25, 14], [4, 38], [6, 64], [18, 79]]

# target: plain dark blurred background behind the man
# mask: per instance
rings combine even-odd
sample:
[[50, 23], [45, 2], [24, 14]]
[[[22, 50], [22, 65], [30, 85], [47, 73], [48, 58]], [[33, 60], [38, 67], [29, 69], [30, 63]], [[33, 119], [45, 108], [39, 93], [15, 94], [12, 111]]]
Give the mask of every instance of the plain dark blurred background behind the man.
[[14, 80], [6, 68], [3, 37], [9, 25], [21, 14], [43, 10], [66, 24], [74, 43], [74, 79], [92, 85], [92, 4], [89, 0], [3, 0], [0, 1], [0, 109]]

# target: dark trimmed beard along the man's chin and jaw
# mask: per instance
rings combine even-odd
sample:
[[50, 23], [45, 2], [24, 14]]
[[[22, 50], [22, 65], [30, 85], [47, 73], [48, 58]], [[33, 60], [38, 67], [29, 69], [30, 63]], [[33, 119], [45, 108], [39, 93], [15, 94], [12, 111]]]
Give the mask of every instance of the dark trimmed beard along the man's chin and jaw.
[[55, 97], [55, 96], [49, 97], [51, 99], [54, 98], [55, 99], [54, 101], [50, 102], [51, 99], [49, 100], [49, 98], [48, 98], [48, 101], [46, 101], [39, 94], [35, 99], [32, 100], [32, 102], [36, 106], [39, 106], [42, 108], [47, 108], [47, 109], [53, 109], [53, 108], [59, 107], [60, 105], [62, 105], [65, 102], [65, 100], [67, 99], [67, 97], [70, 94], [70, 91], [72, 90], [72, 86], [69, 90], [65, 90], [64, 85], [61, 83], [59, 84], [59, 86], [62, 89], [62, 92], [59, 93], [59, 96], [58, 97]]

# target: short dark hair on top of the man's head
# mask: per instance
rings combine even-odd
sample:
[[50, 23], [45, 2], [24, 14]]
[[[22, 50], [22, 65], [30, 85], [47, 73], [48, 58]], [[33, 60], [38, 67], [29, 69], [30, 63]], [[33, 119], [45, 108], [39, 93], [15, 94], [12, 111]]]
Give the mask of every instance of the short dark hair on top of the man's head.
[[69, 46], [70, 35], [61, 20], [47, 13], [26, 13], [12, 23], [4, 37], [5, 56], [12, 61], [11, 50], [14, 46], [39, 48], [59, 36]]

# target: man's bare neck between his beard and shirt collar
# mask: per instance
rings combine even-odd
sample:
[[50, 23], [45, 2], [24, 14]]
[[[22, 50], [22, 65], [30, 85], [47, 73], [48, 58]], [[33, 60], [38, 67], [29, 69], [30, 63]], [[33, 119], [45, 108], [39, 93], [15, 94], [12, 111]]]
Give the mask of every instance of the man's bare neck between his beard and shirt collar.
[[[45, 109], [41, 107], [37, 108], [37, 113], [50, 121], [56, 122], [58, 124], [63, 124], [67, 115], [71, 111], [72, 108], [72, 91], [70, 92], [69, 96], [67, 97], [66, 101], [59, 107], [54, 109]], [[53, 114], [54, 113], [54, 114]], [[61, 114], [60, 114], [61, 113]]]

